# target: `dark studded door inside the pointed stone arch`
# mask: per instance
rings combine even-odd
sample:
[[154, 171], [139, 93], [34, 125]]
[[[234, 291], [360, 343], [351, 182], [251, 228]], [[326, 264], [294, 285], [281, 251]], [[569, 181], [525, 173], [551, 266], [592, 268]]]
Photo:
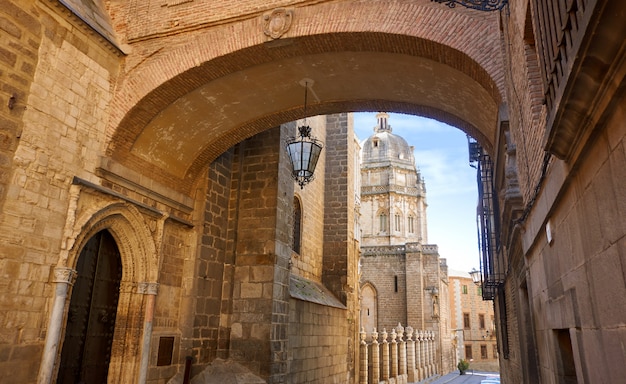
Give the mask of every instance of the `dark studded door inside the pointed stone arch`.
[[122, 278], [120, 252], [107, 230], [80, 253], [67, 315], [58, 383], [106, 383]]

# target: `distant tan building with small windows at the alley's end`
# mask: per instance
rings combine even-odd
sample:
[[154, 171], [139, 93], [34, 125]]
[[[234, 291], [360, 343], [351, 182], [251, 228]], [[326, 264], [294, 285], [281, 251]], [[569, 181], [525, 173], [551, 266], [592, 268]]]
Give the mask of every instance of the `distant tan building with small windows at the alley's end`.
[[466, 359], [470, 369], [499, 371], [493, 302], [483, 300], [481, 287], [467, 272], [449, 270], [448, 280], [456, 362]]

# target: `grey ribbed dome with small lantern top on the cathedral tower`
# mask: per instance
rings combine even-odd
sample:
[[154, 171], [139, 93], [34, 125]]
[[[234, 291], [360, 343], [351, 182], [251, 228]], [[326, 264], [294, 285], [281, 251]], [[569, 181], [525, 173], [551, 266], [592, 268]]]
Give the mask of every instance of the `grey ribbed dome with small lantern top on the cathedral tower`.
[[392, 133], [388, 124], [389, 115], [380, 112], [376, 115], [378, 124], [374, 134], [362, 145], [362, 162], [364, 166], [380, 166], [384, 164], [406, 164], [414, 166], [413, 147], [402, 137]]

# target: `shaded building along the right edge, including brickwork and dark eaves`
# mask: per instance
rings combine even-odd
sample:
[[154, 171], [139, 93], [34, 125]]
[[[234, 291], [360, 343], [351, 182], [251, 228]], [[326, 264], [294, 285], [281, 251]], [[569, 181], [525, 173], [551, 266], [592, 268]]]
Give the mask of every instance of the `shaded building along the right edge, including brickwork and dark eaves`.
[[623, 4], [556, 8], [550, 17], [572, 21], [559, 36], [539, 26], [540, 6], [511, 4], [504, 20], [526, 211], [504, 223], [510, 273], [496, 301], [503, 380], [612, 382], [620, 378], [611, 367], [626, 363], [617, 346], [626, 332]]

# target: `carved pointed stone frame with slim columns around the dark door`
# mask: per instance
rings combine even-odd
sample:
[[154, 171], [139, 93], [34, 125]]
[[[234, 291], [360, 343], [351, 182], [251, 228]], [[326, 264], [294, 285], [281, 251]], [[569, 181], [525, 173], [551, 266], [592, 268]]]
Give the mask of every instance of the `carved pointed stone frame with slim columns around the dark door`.
[[[77, 196], [77, 206], [74, 218], [69, 220], [71, 227], [66, 228], [69, 239], [68, 249], [62, 252], [59, 266], [55, 269], [55, 281], [58, 286], [71, 285], [75, 269], [78, 268], [80, 256], [86, 245], [97, 234], [107, 232], [111, 241], [115, 243], [121, 262], [121, 281], [118, 285], [118, 299], [116, 313], [111, 318], [122, 319], [116, 321], [113, 330], [113, 340], [110, 346], [111, 356], [108, 364], [108, 377], [116, 382], [134, 382], [137, 373], [144, 373], [144, 355], [149, 353], [150, 334], [143, 326], [150, 307], [154, 305], [154, 295], [157, 289], [158, 253], [157, 242], [165, 217], [150, 217], [148, 212], [141, 212], [132, 204], [110, 199], [103, 199], [98, 193], [89, 188], [74, 189]], [[154, 215], [154, 212], [152, 212]], [[154, 223], [154, 230], [150, 229], [149, 222]], [[73, 289], [80, 289], [74, 287]], [[57, 289], [58, 291], [58, 289]], [[72, 294], [72, 289], [69, 290]], [[55, 300], [62, 301], [60, 306], [55, 302], [51, 315], [50, 328], [60, 332], [51, 332], [47, 336], [46, 350], [40, 367], [40, 377], [52, 375], [50, 361], [61, 358], [60, 349], [63, 347], [54, 338], [62, 337], [65, 333], [64, 319], [69, 315], [57, 314], [57, 308], [64, 311], [65, 296], [57, 295]], [[140, 319], [129, 322], [127, 319]], [[55, 324], [55, 323], [61, 324]], [[58, 349], [57, 349], [58, 348]], [[54, 357], [56, 356], [56, 358]], [[145, 360], [147, 362], [147, 360]], [[43, 380], [45, 382], [46, 380]]]

